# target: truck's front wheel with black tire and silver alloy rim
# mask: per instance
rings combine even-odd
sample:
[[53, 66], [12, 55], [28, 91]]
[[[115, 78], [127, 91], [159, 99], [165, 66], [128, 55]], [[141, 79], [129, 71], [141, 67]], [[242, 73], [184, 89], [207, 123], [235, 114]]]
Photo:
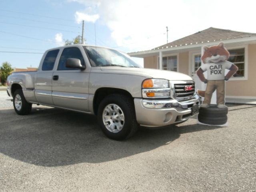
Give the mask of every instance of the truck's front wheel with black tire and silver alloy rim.
[[138, 130], [133, 100], [122, 94], [106, 96], [98, 108], [98, 122], [110, 139], [131, 137]]

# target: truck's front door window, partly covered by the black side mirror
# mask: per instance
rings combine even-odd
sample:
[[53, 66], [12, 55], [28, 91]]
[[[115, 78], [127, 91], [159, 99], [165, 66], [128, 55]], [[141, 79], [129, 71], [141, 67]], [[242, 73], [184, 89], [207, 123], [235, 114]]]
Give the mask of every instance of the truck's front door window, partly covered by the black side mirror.
[[74, 68], [68, 68], [66, 67], [66, 60], [68, 58], [76, 58], [81, 61], [81, 64], [84, 65], [84, 58], [82, 56], [82, 53], [80, 52], [79, 48], [77, 47], [70, 47], [65, 48], [60, 56], [60, 61], [58, 65], [57, 70], [77, 70]]

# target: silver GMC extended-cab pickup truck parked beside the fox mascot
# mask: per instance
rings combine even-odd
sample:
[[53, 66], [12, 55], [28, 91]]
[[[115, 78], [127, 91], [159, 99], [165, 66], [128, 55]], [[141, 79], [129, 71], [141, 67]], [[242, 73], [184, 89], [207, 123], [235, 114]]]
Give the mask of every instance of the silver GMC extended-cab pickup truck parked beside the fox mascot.
[[199, 106], [189, 76], [141, 68], [123, 52], [96, 46], [47, 50], [38, 71], [14, 72], [7, 84], [17, 114], [29, 114], [32, 104], [94, 114], [115, 140], [132, 136], [139, 125], [184, 122]]

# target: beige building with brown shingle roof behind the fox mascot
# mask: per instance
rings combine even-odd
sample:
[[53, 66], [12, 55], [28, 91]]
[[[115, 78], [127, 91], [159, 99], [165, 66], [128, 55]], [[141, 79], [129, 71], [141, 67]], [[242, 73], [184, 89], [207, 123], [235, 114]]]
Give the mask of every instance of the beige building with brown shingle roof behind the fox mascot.
[[[129, 53], [144, 58], [144, 68], [174, 70], [198, 78], [204, 46], [224, 42], [230, 52], [229, 61], [238, 72], [226, 82], [226, 98], [256, 99], [256, 34], [208, 28], [152, 50]], [[196, 84], [201, 82], [196, 81]], [[200, 87], [200, 86], [198, 86]]]

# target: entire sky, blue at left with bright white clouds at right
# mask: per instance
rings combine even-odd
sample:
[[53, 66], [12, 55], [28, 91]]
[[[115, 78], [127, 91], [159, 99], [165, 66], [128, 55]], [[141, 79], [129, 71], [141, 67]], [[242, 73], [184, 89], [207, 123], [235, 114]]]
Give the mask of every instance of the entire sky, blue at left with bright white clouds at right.
[[0, 0], [0, 64], [7, 61], [15, 68], [38, 67], [45, 50], [82, 34], [82, 20], [86, 44], [124, 52], [165, 44], [166, 26], [168, 42], [209, 27], [256, 33], [251, 22], [255, 17], [253, 1], [211, 2]]

